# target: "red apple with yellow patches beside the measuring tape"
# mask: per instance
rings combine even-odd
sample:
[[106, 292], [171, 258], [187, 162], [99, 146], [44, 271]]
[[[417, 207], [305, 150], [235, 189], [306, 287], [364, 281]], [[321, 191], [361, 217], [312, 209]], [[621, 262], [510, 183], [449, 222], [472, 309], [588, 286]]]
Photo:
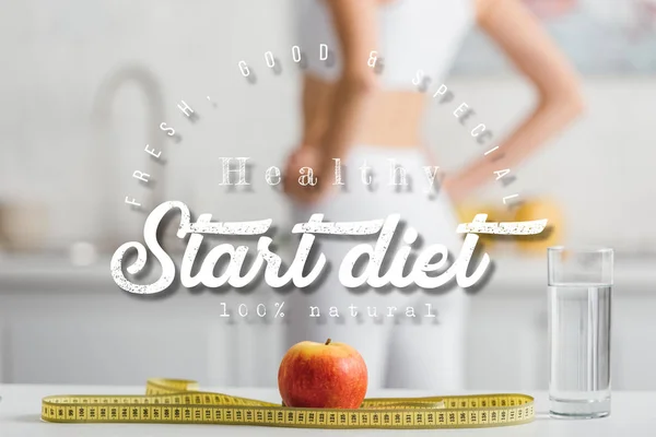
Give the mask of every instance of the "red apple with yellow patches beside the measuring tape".
[[296, 343], [278, 370], [278, 389], [286, 406], [358, 409], [366, 387], [367, 370], [360, 353], [330, 339]]

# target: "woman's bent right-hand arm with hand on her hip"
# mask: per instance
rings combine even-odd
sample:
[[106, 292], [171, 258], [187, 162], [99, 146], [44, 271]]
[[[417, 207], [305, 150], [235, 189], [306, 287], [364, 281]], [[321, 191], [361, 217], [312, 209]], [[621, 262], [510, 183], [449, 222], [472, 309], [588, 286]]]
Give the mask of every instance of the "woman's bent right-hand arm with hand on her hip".
[[[583, 111], [578, 78], [539, 21], [520, 0], [477, 0], [480, 27], [535, 85], [539, 103], [499, 151], [478, 160], [444, 188], [459, 201], [492, 180], [494, 170], [513, 168]], [[493, 161], [494, 154], [503, 154]]]

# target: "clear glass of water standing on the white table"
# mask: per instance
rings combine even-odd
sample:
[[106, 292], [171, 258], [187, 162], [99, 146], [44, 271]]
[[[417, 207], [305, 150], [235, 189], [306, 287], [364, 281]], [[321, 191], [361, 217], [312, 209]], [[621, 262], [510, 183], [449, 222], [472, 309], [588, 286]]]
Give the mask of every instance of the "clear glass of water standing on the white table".
[[612, 249], [548, 249], [550, 414], [610, 414]]

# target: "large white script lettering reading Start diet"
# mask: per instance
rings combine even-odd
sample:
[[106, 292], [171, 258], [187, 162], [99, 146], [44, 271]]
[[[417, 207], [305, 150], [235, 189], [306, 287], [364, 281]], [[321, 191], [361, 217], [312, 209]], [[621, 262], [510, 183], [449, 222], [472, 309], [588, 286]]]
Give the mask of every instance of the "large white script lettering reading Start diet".
[[[455, 229], [458, 234], [467, 235], [455, 261], [438, 275], [431, 275], [430, 273], [443, 270], [449, 258], [447, 247], [438, 241], [431, 243], [421, 249], [413, 261], [410, 273], [403, 273], [408, 271], [406, 264], [412, 251], [412, 244], [419, 237], [414, 228], [408, 227], [402, 236], [402, 244], [393, 255], [391, 267], [385, 274], [380, 274], [383, 260], [386, 258], [390, 243], [397, 233], [401, 218], [400, 214], [391, 214], [384, 218], [363, 222], [324, 222], [324, 215], [317, 213], [313, 214], [307, 223], [298, 223], [293, 227], [292, 233], [302, 234], [302, 236], [293, 262], [284, 272], [281, 272], [283, 260], [270, 249], [272, 238], [265, 235], [271, 227], [271, 220], [232, 223], [212, 222], [211, 214], [202, 214], [192, 223], [191, 213], [185, 203], [167, 201], [151, 212], [143, 227], [145, 245], [160, 262], [162, 273], [152, 284], [143, 285], [129, 281], [124, 273], [124, 260], [129, 252], [136, 250], [137, 259], [126, 270], [129, 274], [138, 274], [147, 264], [148, 251], [139, 241], [126, 243], [116, 250], [110, 263], [112, 276], [124, 291], [134, 294], [155, 294], [165, 291], [174, 283], [176, 277], [175, 263], [157, 240], [157, 228], [162, 220], [174, 210], [178, 210], [180, 213], [177, 237], [183, 239], [189, 235], [180, 265], [181, 285], [187, 288], [198, 285], [204, 285], [208, 288], [218, 288], [225, 285], [233, 288], [243, 288], [254, 282], [262, 269], [265, 270], [265, 281], [272, 288], [281, 288], [289, 284], [293, 284], [297, 288], [307, 287], [317, 280], [327, 264], [325, 255], [319, 253], [312, 269], [306, 267], [314, 241], [320, 235], [332, 237], [378, 236], [374, 244], [354, 245], [341, 261], [338, 268], [339, 281], [345, 287], [355, 288], [365, 285], [373, 288], [388, 285], [407, 287], [414, 284], [421, 288], [437, 288], [455, 277], [458, 286], [467, 288], [480, 281], [490, 265], [490, 256], [484, 253], [473, 273], [467, 274], [479, 239], [478, 234], [537, 235], [547, 225], [547, 220], [488, 223], [485, 222], [487, 214], [477, 214], [471, 223], [460, 224]], [[206, 256], [199, 272], [192, 275], [191, 268], [196, 262], [203, 235], [258, 237], [257, 253], [251, 265], [249, 268], [244, 265], [246, 256], [250, 250], [247, 246], [235, 247], [225, 243], [214, 247]], [[355, 275], [354, 268], [363, 257], [367, 259], [366, 269], [363, 273]], [[227, 262], [227, 264], [222, 270], [223, 273], [215, 276], [214, 272], [220, 261]]]

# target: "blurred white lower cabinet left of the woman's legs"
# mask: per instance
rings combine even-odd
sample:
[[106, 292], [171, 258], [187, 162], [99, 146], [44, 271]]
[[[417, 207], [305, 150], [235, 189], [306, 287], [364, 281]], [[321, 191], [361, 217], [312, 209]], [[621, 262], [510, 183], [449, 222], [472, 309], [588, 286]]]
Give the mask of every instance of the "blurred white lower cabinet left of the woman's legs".
[[172, 377], [272, 386], [279, 329], [253, 317], [220, 317], [221, 302], [236, 308], [254, 300], [184, 291], [149, 300], [115, 288], [0, 293], [1, 381], [141, 385]]

